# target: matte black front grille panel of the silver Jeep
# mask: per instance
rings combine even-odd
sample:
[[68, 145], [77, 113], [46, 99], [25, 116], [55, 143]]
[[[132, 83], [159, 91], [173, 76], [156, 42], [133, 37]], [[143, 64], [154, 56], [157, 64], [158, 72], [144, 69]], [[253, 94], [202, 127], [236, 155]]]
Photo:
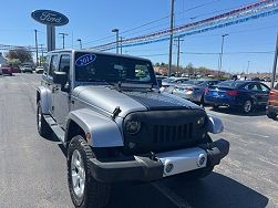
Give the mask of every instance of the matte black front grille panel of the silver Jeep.
[[200, 117], [206, 117], [206, 113], [198, 108], [131, 113], [125, 121], [140, 121], [141, 129], [136, 134], [124, 131], [125, 153], [161, 153], [196, 146], [207, 133], [206, 127], [197, 125]]

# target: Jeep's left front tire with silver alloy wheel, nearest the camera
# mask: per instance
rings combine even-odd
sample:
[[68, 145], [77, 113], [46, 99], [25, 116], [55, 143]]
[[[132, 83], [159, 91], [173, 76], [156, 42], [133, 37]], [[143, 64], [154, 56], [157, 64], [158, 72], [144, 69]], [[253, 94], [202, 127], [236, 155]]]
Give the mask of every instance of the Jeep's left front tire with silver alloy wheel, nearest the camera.
[[68, 184], [75, 207], [103, 207], [109, 202], [109, 184], [95, 180], [90, 170], [89, 160], [94, 158], [92, 148], [78, 135], [68, 148]]

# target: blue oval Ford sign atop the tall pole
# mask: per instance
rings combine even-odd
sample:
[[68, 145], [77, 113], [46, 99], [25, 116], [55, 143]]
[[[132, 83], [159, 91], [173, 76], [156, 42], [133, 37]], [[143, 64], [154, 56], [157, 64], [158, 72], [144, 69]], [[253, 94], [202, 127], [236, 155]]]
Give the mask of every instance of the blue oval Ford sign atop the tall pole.
[[51, 10], [35, 10], [31, 13], [32, 18], [38, 22], [48, 25], [64, 25], [69, 23], [69, 19], [56, 11]]

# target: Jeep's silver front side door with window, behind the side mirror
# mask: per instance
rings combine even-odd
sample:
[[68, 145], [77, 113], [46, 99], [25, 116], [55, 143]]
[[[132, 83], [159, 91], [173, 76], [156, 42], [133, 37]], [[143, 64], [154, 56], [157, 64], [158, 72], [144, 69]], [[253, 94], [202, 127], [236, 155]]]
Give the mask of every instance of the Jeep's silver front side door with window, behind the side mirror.
[[66, 125], [66, 116], [70, 112], [70, 73], [71, 73], [71, 55], [61, 54], [59, 60], [59, 72], [65, 72], [68, 74], [68, 82], [64, 86], [60, 84], [54, 84], [52, 90], [52, 102], [53, 102], [53, 115], [56, 123], [61, 127]]

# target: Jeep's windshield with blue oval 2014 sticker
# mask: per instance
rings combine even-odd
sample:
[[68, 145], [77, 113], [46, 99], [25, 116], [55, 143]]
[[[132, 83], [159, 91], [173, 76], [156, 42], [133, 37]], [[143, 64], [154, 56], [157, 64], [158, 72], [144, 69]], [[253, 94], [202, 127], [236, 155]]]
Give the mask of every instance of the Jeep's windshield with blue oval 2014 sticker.
[[156, 84], [151, 62], [132, 58], [78, 52], [75, 54], [78, 82], [132, 82]]

